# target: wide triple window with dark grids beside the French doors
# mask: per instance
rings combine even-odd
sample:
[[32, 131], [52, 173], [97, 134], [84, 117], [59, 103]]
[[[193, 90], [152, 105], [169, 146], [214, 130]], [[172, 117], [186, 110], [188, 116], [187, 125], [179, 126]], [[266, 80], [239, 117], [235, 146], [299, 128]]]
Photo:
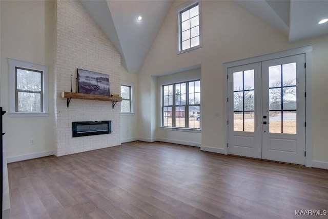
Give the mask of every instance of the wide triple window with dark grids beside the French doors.
[[162, 127], [200, 129], [200, 80], [162, 86]]

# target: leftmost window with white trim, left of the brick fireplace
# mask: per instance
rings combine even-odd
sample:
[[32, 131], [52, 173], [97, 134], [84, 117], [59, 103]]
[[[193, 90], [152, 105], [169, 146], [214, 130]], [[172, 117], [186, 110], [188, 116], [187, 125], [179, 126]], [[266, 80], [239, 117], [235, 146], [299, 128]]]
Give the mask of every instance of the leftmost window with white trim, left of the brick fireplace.
[[48, 66], [9, 59], [11, 116], [48, 116]]

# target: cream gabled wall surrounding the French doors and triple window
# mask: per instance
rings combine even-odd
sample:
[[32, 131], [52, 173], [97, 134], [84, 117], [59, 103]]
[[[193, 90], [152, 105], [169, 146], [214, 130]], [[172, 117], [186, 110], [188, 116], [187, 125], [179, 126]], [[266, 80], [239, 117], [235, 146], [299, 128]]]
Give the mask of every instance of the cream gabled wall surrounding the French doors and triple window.
[[[328, 36], [289, 43], [288, 37], [237, 6], [232, 1], [202, 1], [202, 47], [177, 55], [177, 13], [182, 4], [175, 1], [139, 72], [140, 137], [153, 135], [158, 115], [152, 96], [153, 77], [163, 72], [201, 65], [202, 134], [201, 145], [224, 148], [224, 80], [223, 63], [313, 44], [313, 160], [328, 164]], [[215, 116], [219, 112], [220, 116]], [[154, 130], [155, 129], [155, 130]], [[160, 132], [158, 132], [160, 133]], [[188, 141], [188, 139], [186, 139]], [[328, 166], [327, 166], [328, 168]]]

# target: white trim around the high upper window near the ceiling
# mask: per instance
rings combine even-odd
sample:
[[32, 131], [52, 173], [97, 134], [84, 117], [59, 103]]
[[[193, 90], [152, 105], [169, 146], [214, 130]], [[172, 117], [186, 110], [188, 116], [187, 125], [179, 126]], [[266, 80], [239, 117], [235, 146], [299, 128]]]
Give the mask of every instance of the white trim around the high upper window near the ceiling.
[[[192, 5], [194, 5], [195, 3], [198, 3], [198, 16], [199, 16], [199, 45], [198, 46], [194, 46], [191, 47], [189, 49], [185, 49], [185, 50], [181, 50], [181, 46], [180, 46], [180, 38], [181, 38], [181, 33], [180, 33], [180, 11], [182, 11], [185, 8], [188, 8]], [[181, 53], [185, 53], [185, 52], [189, 52], [191, 50], [195, 50], [198, 48], [202, 47], [202, 22], [201, 22], [201, 1], [187, 1], [185, 3], [183, 3], [182, 5], [179, 5], [178, 7], [176, 7], [176, 12], [177, 12], [177, 17], [178, 17], [178, 40], [177, 40], [177, 54], [181, 54]]]

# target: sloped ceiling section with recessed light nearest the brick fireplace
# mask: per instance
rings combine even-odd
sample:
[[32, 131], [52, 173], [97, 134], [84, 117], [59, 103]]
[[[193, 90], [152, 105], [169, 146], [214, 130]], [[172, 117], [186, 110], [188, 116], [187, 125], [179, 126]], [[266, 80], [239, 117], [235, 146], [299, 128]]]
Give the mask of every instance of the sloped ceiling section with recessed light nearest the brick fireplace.
[[[121, 54], [122, 65], [138, 73], [172, 1], [81, 1]], [[140, 22], [138, 16], [142, 16]]]

